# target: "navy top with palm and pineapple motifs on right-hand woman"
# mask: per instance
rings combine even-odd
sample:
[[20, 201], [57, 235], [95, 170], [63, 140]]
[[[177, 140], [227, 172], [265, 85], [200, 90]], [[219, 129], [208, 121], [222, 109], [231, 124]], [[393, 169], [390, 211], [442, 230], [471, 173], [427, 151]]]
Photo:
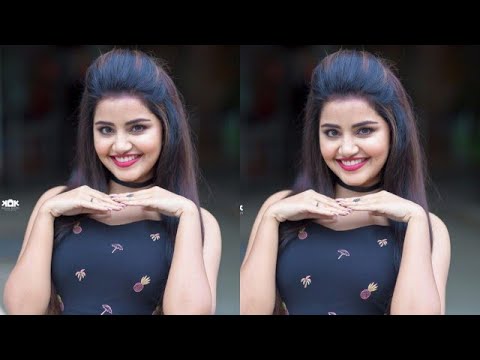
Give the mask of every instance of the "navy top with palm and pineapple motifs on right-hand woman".
[[389, 226], [336, 231], [311, 222], [279, 252], [277, 286], [289, 314], [382, 315], [397, 278]]

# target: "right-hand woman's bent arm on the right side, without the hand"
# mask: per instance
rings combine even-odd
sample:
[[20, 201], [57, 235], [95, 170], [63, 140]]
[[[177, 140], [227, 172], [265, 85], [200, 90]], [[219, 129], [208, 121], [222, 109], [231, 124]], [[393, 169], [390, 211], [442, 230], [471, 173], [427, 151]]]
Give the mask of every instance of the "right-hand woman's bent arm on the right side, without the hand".
[[419, 211], [408, 221], [393, 293], [392, 315], [445, 313], [450, 238], [440, 219], [435, 216], [431, 217], [431, 221], [433, 249], [430, 247], [426, 213]]

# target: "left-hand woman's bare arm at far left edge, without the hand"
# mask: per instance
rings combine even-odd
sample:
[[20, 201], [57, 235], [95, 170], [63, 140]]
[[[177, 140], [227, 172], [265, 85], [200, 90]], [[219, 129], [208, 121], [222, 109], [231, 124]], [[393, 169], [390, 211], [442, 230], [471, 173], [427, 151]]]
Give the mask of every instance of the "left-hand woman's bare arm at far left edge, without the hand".
[[48, 307], [54, 217], [43, 204], [64, 188], [46, 191], [33, 209], [20, 255], [5, 284], [3, 302], [9, 314], [43, 314]]

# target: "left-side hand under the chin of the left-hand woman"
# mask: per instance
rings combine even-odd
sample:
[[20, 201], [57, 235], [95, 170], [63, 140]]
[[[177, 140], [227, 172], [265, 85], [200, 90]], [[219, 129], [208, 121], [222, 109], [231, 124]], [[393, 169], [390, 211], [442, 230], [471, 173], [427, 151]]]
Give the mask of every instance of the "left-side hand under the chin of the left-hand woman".
[[122, 210], [122, 204], [113, 201], [107, 194], [87, 185], [58, 194], [42, 204], [53, 217], [78, 214], [104, 214], [110, 210]]

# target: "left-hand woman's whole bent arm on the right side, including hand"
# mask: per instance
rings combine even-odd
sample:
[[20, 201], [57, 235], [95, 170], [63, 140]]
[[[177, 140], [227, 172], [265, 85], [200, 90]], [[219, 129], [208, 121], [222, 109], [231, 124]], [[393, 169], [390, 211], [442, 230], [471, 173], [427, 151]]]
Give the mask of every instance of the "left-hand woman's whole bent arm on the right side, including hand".
[[191, 200], [154, 186], [132, 194], [110, 194], [125, 205], [143, 206], [179, 218], [172, 264], [163, 295], [164, 314], [212, 314], [220, 264], [220, 228], [206, 210], [204, 241], [198, 208]]

